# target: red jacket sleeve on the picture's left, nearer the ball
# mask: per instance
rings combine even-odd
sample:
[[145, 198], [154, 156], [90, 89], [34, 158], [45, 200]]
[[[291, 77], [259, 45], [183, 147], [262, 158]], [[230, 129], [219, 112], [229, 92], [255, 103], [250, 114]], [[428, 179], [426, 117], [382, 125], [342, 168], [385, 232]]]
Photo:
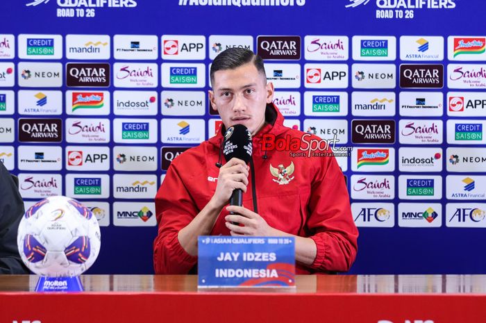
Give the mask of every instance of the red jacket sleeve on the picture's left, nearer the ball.
[[172, 163], [156, 195], [158, 235], [153, 242], [156, 274], [187, 274], [196, 264], [197, 257], [187, 254], [177, 235], [197, 213], [199, 210]]

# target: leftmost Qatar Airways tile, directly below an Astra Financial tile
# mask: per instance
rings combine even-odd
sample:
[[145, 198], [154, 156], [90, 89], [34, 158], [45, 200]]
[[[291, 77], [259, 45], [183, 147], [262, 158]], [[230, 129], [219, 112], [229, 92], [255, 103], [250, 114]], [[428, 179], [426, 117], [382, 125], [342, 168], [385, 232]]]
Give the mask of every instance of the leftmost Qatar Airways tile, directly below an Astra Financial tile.
[[19, 119], [20, 142], [62, 141], [61, 119]]

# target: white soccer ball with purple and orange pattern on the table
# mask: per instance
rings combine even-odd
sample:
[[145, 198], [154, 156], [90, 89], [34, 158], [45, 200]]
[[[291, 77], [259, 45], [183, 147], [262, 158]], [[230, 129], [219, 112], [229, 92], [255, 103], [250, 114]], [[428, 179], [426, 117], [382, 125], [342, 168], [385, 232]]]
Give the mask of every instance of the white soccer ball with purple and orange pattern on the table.
[[22, 260], [35, 274], [78, 276], [96, 260], [101, 233], [89, 208], [69, 197], [48, 197], [22, 217], [17, 245]]

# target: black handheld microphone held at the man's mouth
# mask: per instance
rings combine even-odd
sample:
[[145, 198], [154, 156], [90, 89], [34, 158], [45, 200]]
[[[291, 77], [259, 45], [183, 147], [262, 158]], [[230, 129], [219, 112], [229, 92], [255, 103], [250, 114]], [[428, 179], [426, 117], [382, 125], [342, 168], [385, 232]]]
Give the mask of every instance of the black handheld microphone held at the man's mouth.
[[[226, 162], [236, 157], [243, 160], [246, 164], [251, 159], [253, 144], [251, 142], [251, 133], [242, 124], [235, 124], [229, 127], [224, 133], [223, 155]], [[243, 191], [237, 188], [231, 194], [230, 205], [243, 205]]]

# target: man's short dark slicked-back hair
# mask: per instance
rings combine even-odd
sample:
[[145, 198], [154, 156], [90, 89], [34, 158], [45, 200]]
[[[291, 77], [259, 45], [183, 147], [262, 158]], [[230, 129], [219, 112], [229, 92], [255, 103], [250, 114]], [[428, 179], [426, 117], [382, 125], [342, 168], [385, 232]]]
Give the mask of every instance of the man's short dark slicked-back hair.
[[265, 76], [265, 67], [260, 56], [253, 53], [249, 49], [232, 47], [225, 51], [221, 51], [211, 65], [211, 84], [215, 81], [215, 73], [224, 69], [235, 69], [246, 63], [253, 63], [257, 71]]

